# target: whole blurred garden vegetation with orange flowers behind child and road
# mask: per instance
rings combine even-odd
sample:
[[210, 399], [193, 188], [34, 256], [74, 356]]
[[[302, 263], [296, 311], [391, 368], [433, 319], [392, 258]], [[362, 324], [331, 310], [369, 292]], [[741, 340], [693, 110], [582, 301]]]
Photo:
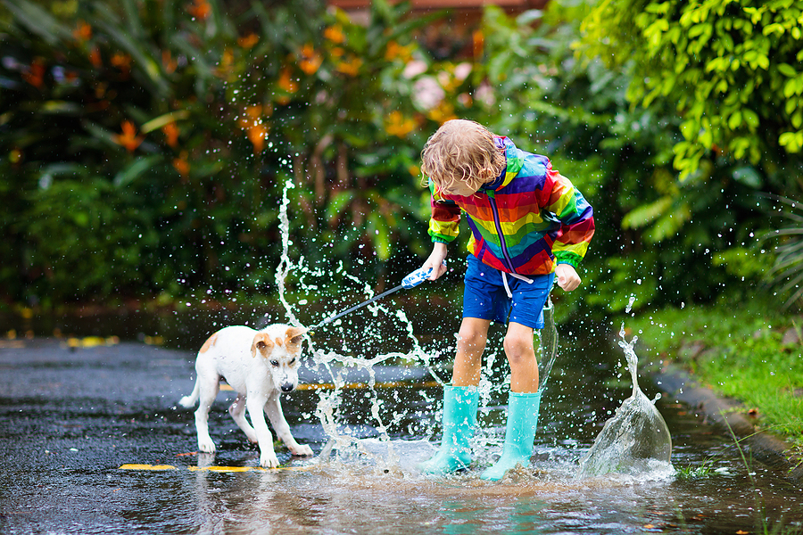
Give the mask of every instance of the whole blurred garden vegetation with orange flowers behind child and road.
[[430, 248], [421, 146], [460, 117], [592, 203], [564, 312], [773, 278], [794, 308], [801, 8], [724, 4], [488, 6], [444, 48], [404, 3], [4, 0], [0, 307], [270, 299], [288, 181], [294, 261], [396, 284]]

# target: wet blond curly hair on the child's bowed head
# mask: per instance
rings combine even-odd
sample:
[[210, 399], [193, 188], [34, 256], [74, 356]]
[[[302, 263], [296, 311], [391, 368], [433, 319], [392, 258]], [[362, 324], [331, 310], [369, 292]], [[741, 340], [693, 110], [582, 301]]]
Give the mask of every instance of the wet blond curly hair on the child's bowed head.
[[446, 121], [421, 151], [421, 171], [443, 193], [458, 183], [477, 191], [499, 177], [506, 166], [505, 154], [491, 131], [473, 120]]

